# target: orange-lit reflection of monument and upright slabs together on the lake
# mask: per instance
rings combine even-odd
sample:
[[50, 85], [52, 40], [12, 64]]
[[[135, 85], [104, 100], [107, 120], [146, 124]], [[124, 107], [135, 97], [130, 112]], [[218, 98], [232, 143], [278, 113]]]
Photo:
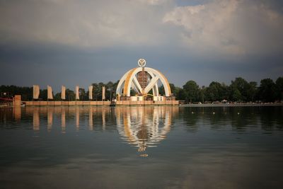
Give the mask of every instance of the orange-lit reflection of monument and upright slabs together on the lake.
[[[149, 147], [166, 139], [178, 107], [33, 107], [25, 108], [25, 115], [33, 116], [33, 130], [47, 128], [51, 132], [61, 126], [62, 133], [72, 130], [117, 130], [128, 144], [145, 153]], [[15, 114], [20, 114], [15, 111]], [[19, 115], [15, 118], [19, 119]], [[20, 117], [21, 118], [21, 117]], [[42, 127], [40, 128], [40, 125]], [[141, 156], [147, 156], [142, 154]]]

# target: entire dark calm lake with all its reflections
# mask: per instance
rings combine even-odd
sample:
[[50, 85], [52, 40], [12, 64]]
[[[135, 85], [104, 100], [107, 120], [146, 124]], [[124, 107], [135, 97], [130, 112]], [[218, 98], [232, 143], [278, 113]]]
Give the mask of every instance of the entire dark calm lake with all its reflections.
[[283, 188], [283, 107], [0, 109], [0, 188]]

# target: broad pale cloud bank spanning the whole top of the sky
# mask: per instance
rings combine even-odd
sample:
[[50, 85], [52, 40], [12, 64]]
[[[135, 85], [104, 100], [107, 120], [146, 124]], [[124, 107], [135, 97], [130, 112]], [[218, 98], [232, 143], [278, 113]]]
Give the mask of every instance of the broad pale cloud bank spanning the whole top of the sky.
[[[166, 44], [244, 55], [281, 51], [283, 16], [259, 1], [1, 1], [0, 43], [75, 47]], [[178, 51], [178, 49], [176, 49]]]

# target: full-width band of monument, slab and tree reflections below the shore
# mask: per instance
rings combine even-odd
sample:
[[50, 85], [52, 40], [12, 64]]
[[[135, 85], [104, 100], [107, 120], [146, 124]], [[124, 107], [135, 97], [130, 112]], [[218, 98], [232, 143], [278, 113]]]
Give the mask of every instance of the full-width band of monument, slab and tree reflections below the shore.
[[[185, 122], [184, 126], [188, 132], [197, 132], [200, 130], [200, 125], [208, 123], [212, 130], [223, 130], [229, 125], [231, 125], [232, 130], [237, 132], [246, 132], [248, 127], [253, 125], [260, 125], [262, 130], [267, 133], [274, 130], [283, 130], [283, 106], [232, 108], [116, 107], [113, 109], [95, 106], [18, 107], [2, 108], [0, 122], [2, 125], [6, 124], [7, 120], [19, 122], [21, 119], [27, 120], [28, 116], [31, 116], [33, 118], [33, 130], [40, 130], [40, 119], [42, 119], [42, 128], [46, 126], [47, 131], [51, 131], [55, 125], [61, 125], [62, 132], [66, 132], [67, 122], [75, 125], [76, 130], [83, 129], [83, 125], [88, 125], [88, 130], [94, 130], [94, 125], [98, 126], [98, 130], [117, 130], [117, 125], [119, 133], [123, 133], [124, 138], [126, 137], [130, 144], [137, 144], [137, 141], [139, 141], [139, 150], [144, 151], [150, 143], [146, 142], [147, 139], [154, 141], [153, 138], [156, 137], [156, 133], [163, 136], [162, 133], [168, 132], [171, 117], [176, 113], [180, 115], [179, 119]], [[85, 124], [86, 119], [88, 122]], [[123, 126], [121, 127], [121, 125]], [[158, 139], [161, 140], [160, 136]], [[142, 140], [144, 144], [142, 144]]]

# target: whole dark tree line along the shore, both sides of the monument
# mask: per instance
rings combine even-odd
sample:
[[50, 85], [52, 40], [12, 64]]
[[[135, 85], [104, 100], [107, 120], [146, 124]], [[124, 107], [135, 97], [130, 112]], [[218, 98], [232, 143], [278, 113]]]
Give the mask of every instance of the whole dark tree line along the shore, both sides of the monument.
[[[115, 96], [115, 91], [119, 81], [113, 83], [93, 83], [93, 101], [101, 101], [102, 87], [105, 86], [106, 101], [110, 97]], [[195, 81], [187, 81], [181, 88], [170, 84], [171, 91], [176, 97], [176, 100], [187, 101], [188, 103], [194, 102], [214, 102], [214, 101], [233, 101], [233, 102], [275, 102], [283, 100], [283, 77], [279, 77], [276, 81], [272, 79], [262, 79], [260, 85], [255, 81], [246, 81], [241, 77], [237, 77], [231, 81], [230, 85], [212, 81], [209, 86], [200, 87]], [[16, 94], [22, 96], [23, 101], [33, 100], [33, 87], [21, 86], [0, 86], [0, 96], [12, 97]], [[80, 100], [88, 101], [88, 91], [84, 88], [79, 88]], [[159, 93], [164, 95], [163, 86], [159, 87]], [[71, 89], [66, 89], [66, 101], [75, 101], [75, 93]], [[40, 90], [40, 99], [47, 101], [47, 89]], [[61, 101], [61, 93], [54, 94], [54, 101]]]

